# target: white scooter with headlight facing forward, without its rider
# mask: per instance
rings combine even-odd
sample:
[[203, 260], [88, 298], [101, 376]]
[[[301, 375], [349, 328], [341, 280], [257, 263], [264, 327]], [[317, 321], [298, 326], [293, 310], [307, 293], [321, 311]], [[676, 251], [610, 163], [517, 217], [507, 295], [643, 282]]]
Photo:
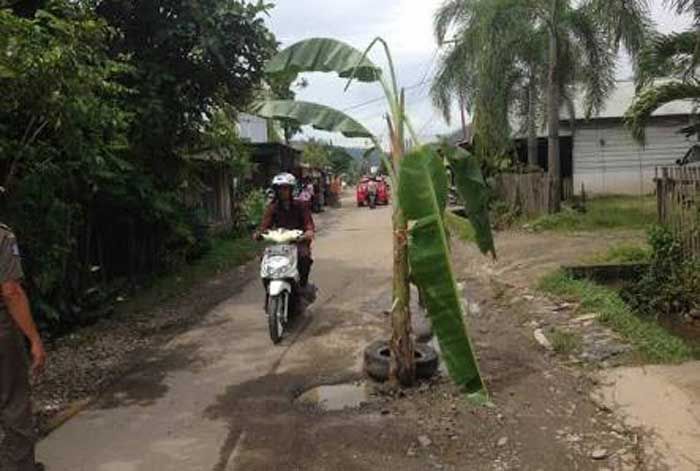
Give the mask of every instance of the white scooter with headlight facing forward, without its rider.
[[295, 309], [299, 286], [299, 268], [296, 242], [303, 232], [279, 229], [262, 235], [272, 242], [265, 249], [260, 265], [260, 277], [266, 288], [265, 311], [272, 343], [282, 340], [289, 319]]

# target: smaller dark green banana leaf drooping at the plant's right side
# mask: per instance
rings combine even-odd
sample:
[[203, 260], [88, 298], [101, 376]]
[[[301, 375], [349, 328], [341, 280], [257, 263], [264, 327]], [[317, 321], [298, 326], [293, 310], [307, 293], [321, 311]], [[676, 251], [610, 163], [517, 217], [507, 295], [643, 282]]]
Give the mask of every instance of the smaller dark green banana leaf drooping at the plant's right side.
[[488, 186], [481, 174], [479, 162], [459, 147], [441, 148], [450, 163], [457, 193], [464, 204], [467, 218], [474, 228], [476, 244], [482, 253], [496, 257], [491, 222], [489, 220]]

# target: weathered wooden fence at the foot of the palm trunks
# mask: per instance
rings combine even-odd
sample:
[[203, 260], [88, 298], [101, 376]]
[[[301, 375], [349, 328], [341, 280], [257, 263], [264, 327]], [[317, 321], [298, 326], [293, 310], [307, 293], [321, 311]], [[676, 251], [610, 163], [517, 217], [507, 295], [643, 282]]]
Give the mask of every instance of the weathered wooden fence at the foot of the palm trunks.
[[[502, 173], [496, 178], [494, 190], [498, 198], [511, 208], [519, 208], [528, 217], [550, 214], [553, 210], [554, 180], [542, 172]], [[562, 198], [573, 196], [572, 179], [563, 179]]]

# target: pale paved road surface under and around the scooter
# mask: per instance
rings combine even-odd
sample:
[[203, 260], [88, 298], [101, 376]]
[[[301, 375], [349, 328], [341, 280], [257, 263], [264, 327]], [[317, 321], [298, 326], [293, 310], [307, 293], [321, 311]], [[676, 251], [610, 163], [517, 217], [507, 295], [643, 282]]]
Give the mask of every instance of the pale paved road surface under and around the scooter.
[[298, 392], [290, 387], [360, 371], [362, 348], [383, 329], [368, 306], [390, 281], [390, 209], [349, 207], [332, 218], [314, 246], [318, 301], [282, 345], [270, 342], [261, 287], [251, 279], [47, 437], [39, 457], [48, 469], [302, 469], [284, 465], [306, 459], [290, 445], [304, 424], [289, 412]]

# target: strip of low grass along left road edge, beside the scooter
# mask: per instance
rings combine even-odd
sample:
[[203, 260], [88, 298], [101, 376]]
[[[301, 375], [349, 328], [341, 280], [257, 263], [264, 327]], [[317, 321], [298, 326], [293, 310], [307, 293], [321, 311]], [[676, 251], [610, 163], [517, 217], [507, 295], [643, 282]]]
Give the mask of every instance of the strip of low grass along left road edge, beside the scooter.
[[148, 309], [154, 302], [170, 298], [187, 291], [198, 282], [244, 265], [261, 248], [262, 244], [253, 241], [248, 235], [214, 238], [211, 249], [204, 256], [173, 273], [156, 278], [127, 303], [128, 308], [136, 311]]

